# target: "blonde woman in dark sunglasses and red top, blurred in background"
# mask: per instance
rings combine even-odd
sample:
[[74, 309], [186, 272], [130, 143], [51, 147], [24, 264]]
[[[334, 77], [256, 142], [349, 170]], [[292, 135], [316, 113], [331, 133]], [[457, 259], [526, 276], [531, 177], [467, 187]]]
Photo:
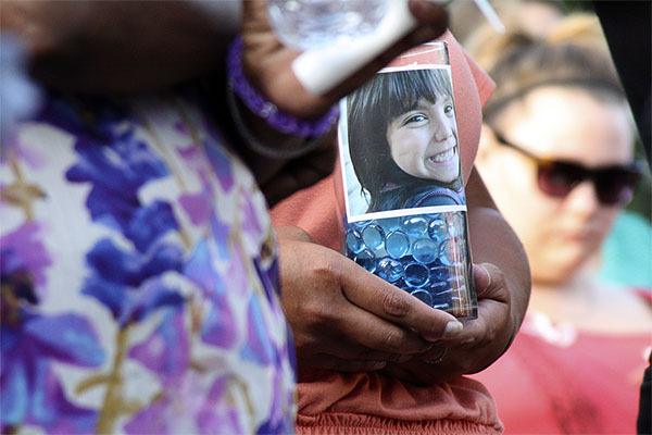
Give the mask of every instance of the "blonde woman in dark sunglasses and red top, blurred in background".
[[576, 26], [566, 18], [548, 40], [501, 36], [477, 53], [498, 85], [485, 109], [478, 170], [532, 276], [521, 334], [478, 376], [507, 433], [632, 433], [649, 352], [650, 307], [591, 270], [639, 169], [606, 52], [561, 36]]

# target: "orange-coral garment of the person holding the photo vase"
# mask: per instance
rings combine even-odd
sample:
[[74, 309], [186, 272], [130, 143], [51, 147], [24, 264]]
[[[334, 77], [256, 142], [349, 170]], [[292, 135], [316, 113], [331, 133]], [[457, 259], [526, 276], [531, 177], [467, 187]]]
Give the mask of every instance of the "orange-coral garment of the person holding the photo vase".
[[[491, 95], [493, 82], [450, 33], [441, 39], [449, 44], [462, 167], [468, 179], [480, 137], [481, 105]], [[299, 226], [316, 243], [341, 251], [343, 234], [336, 204], [330, 175], [279, 202], [272, 217], [276, 225]], [[493, 399], [469, 378], [424, 387], [377, 372], [306, 372], [302, 370], [305, 374], [298, 386], [300, 434], [486, 434], [502, 428]]]

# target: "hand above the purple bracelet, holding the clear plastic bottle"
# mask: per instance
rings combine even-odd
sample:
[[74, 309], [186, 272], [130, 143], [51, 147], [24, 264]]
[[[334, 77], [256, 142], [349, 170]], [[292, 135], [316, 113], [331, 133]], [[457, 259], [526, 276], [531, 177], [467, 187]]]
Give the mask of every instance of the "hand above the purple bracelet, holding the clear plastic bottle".
[[437, 38], [448, 26], [448, 14], [442, 7], [425, 0], [409, 0], [417, 27], [335, 89], [316, 96], [303, 89], [294, 76], [291, 63], [299, 53], [281, 45], [274, 35], [267, 22], [265, 1], [246, 1], [243, 8], [243, 66], [248, 77], [277, 107], [301, 117], [326, 112], [397, 55]]

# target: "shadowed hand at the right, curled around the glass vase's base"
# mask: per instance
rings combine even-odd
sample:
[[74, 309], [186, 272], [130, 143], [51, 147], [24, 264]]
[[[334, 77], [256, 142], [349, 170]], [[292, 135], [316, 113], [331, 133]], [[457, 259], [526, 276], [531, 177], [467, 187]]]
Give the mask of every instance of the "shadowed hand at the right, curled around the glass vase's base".
[[464, 321], [454, 338], [442, 338], [432, 349], [405, 361], [390, 363], [385, 372], [416, 384], [438, 384], [462, 374], [477, 373], [496, 361], [516, 334], [511, 296], [502, 271], [493, 264], [474, 264], [478, 318]]

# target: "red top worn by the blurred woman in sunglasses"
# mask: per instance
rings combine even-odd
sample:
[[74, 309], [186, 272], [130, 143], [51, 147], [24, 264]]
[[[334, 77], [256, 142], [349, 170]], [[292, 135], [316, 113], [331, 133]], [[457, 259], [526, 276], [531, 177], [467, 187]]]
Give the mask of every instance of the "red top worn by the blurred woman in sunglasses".
[[526, 318], [507, 352], [474, 377], [506, 434], [634, 434], [650, 334], [606, 335]]

